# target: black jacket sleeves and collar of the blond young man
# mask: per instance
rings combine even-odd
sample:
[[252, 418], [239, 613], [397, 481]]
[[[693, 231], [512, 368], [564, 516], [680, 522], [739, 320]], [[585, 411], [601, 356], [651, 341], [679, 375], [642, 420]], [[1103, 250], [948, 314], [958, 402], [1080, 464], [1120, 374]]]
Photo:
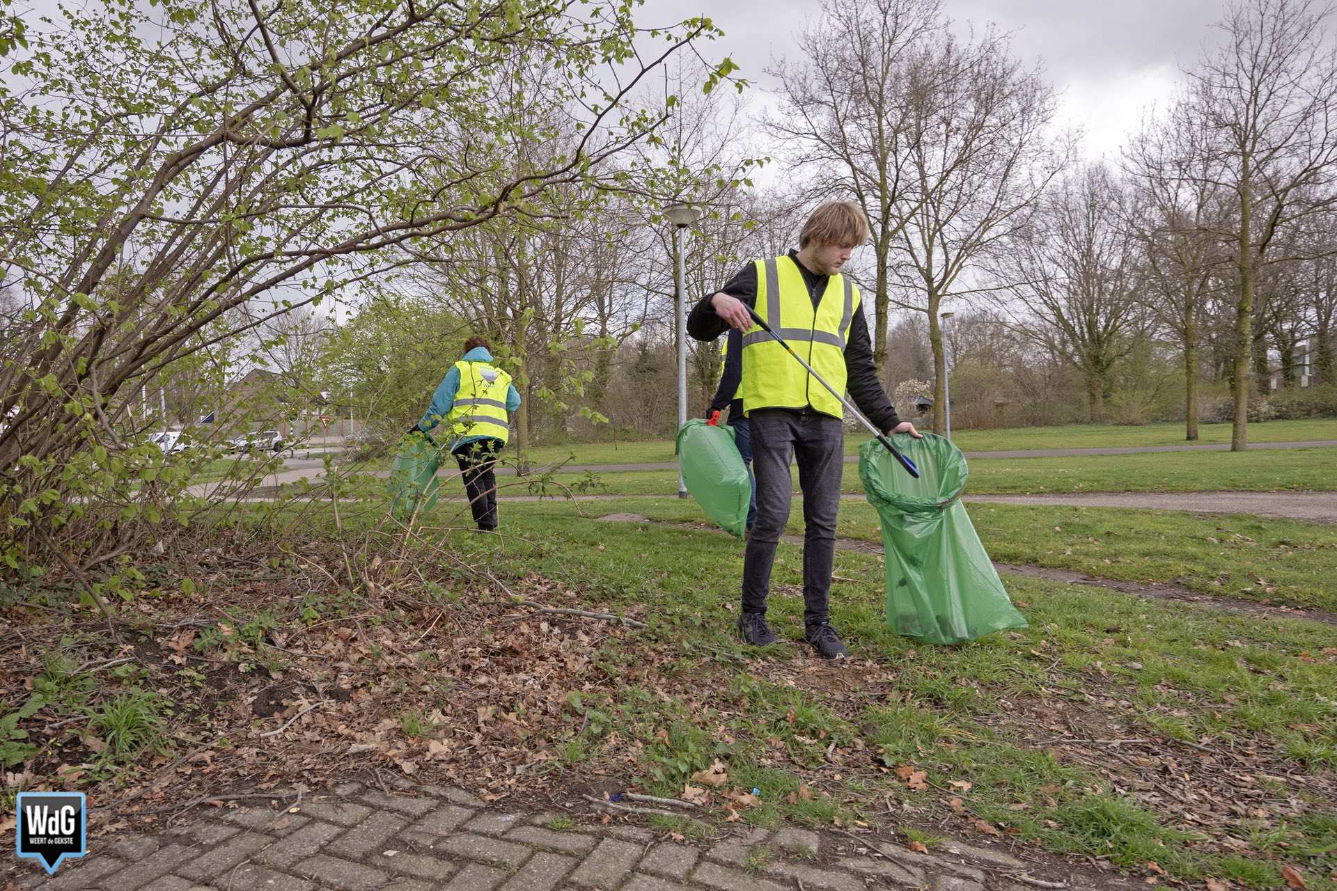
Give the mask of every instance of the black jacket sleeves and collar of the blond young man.
[[[821, 301], [822, 293], [826, 290], [826, 281], [830, 277], [814, 273], [800, 263], [798, 251], [792, 250], [789, 251], [789, 255], [798, 266], [798, 271], [804, 274], [804, 283], [808, 285], [808, 295], [812, 298], [813, 306], [817, 306]], [[729, 279], [729, 282], [719, 289], [719, 291], [738, 298], [747, 306], [755, 307], [757, 266], [753, 263], [743, 266], [738, 270], [737, 275]], [[703, 298], [691, 309], [691, 314], [687, 317], [687, 334], [698, 341], [714, 341], [729, 327], [725, 321], [715, 314], [715, 307], [710, 305], [713, 297], [714, 294], [710, 294]], [[738, 343], [741, 347], [742, 338], [739, 338]], [[733, 355], [734, 345], [730, 342], [729, 357], [731, 358]], [[738, 350], [738, 358], [741, 375], [742, 349]], [[869, 421], [877, 425], [877, 427], [884, 433], [900, 423], [896, 407], [892, 405], [892, 401], [886, 398], [886, 390], [882, 389], [881, 381], [877, 379], [877, 366], [873, 365], [873, 341], [868, 335], [868, 323], [864, 321], [862, 313], [854, 313], [854, 318], [849, 325], [849, 333], [845, 341], [845, 387], [849, 390], [850, 399], [856, 406], [858, 406], [858, 410], [862, 411]], [[714, 407], [714, 405], [711, 407]]]

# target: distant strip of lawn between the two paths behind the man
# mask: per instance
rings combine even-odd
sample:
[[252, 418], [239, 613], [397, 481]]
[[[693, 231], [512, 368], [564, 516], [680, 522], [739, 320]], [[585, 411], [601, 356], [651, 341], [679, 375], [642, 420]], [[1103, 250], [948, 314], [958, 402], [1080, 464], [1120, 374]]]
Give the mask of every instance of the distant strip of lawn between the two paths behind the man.
[[[1337, 448], [1267, 452], [1171, 452], [1072, 458], [975, 458], [969, 461], [969, 494], [1074, 492], [1330, 492], [1337, 489]], [[797, 489], [797, 470], [794, 473]], [[558, 473], [558, 484], [586, 493], [660, 494], [678, 490], [674, 470]], [[503, 494], [523, 494], [528, 485], [500, 477]], [[461, 484], [455, 484], [461, 485]], [[578, 489], [579, 488], [579, 489]], [[461, 486], [463, 490], [463, 486]], [[858, 465], [845, 465], [841, 490], [861, 493]]]

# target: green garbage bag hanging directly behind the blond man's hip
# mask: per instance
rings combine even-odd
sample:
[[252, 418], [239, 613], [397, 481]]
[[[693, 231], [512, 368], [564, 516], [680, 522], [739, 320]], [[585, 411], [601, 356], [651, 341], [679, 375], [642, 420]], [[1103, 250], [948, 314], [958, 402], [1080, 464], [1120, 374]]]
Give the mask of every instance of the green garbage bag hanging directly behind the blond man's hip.
[[747, 529], [751, 480], [734, 445], [733, 427], [718, 427], [693, 418], [678, 429], [674, 445], [687, 492], [706, 516], [739, 538]]

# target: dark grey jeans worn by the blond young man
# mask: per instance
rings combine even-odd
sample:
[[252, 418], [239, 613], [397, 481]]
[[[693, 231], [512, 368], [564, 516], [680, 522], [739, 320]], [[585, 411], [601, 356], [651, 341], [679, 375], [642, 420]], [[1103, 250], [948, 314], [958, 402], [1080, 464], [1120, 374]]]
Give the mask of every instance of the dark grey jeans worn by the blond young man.
[[845, 430], [840, 418], [829, 414], [787, 409], [758, 409], [749, 418], [757, 474], [757, 524], [743, 554], [743, 612], [766, 612], [775, 545], [789, 521], [793, 498], [789, 462], [797, 458], [798, 488], [804, 493], [804, 622], [824, 622], [830, 614]]

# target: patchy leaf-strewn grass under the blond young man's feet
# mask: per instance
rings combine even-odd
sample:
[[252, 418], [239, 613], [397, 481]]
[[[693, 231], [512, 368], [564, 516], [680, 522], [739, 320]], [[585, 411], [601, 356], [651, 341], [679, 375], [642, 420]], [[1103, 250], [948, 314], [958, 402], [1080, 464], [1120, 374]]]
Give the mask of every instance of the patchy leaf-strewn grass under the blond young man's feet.
[[[1310, 887], [1333, 887], [1322, 878], [1337, 868], [1330, 625], [1008, 578], [1028, 629], [935, 648], [890, 633], [880, 560], [844, 552], [833, 609], [854, 661], [833, 669], [798, 640], [798, 548], [781, 545], [773, 577], [785, 643], [755, 655], [731, 640], [742, 556], [718, 534], [600, 522], [571, 504], [507, 505], [503, 525], [528, 541], [468, 538], [468, 558], [651, 624], [643, 648], [604, 653], [618, 685], [582, 696], [602, 724], [568, 741], [575, 775], [630, 741], [651, 793], [681, 793], [722, 759], [734, 781], [762, 789], [749, 822], [890, 808], [947, 830], [983, 820], [1139, 876], [1154, 860], [1182, 880], [1274, 887], [1290, 863]], [[1332, 578], [1314, 581], [1316, 596], [1337, 596]], [[646, 667], [659, 645], [677, 653], [664, 677]], [[924, 771], [924, 788], [894, 768]], [[787, 797], [800, 783], [832, 797]], [[1246, 795], [1247, 808], [1225, 804]]]

